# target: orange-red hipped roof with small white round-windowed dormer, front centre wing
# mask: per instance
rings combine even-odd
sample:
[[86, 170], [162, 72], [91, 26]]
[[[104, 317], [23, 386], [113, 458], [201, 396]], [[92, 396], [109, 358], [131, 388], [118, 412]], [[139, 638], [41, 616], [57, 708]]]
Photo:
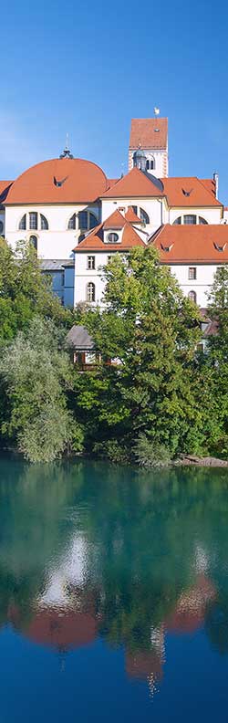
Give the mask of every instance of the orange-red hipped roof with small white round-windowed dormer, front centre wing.
[[[119, 225], [115, 225], [117, 223]], [[123, 229], [121, 241], [117, 244], [109, 244], [103, 240], [104, 230], [111, 230], [112, 228]], [[76, 253], [80, 251], [129, 251], [133, 246], [145, 246], [145, 244], [130, 223], [126, 221], [126, 218], [119, 211], [115, 211], [103, 224], [96, 226], [73, 250]]]

